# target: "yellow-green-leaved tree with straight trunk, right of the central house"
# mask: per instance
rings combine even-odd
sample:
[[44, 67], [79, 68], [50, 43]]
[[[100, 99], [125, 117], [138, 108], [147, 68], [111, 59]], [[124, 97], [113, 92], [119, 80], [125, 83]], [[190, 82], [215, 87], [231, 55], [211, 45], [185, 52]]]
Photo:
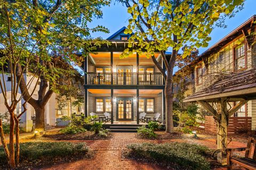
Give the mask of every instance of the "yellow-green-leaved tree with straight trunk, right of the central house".
[[[191, 49], [207, 47], [213, 28], [224, 26], [227, 16], [233, 16], [243, 7], [243, 0], [119, 0], [131, 14], [125, 33], [134, 35], [129, 39], [122, 57], [131, 52], [151, 57], [165, 80], [166, 132], [173, 132], [172, 118], [172, 78], [173, 67], [179, 50], [184, 47], [182, 57], [191, 53]], [[137, 47], [131, 49], [133, 46]], [[186, 45], [186, 46], [185, 46]], [[165, 51], [172, 50], [171, 57]], [[154, 53], [159, 51], [164, 67], [157, 62]]]

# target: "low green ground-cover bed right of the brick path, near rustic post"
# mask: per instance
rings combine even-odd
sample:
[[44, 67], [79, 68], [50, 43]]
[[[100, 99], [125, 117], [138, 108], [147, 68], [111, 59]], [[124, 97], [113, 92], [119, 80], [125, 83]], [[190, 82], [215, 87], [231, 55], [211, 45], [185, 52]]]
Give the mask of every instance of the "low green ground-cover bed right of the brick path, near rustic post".
[[127, 148], [132, 157], [149, 159], [157, 162], [175, 163], [189, 169], [210, 169], [210, 165], [204, 158], [209, 154], [207, 147], [189, 143], [141, 143], [131, 144]]

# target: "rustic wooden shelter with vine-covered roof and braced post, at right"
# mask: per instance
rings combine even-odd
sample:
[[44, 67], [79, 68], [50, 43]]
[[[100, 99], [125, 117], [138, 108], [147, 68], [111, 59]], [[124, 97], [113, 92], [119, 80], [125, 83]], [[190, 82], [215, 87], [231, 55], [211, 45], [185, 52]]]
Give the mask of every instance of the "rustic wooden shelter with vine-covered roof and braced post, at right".
[[[217, 122], [217, 149], [223, 149], [227, 148], [229, 117], [247, 101], [254, 99], [256, 99], [256, 69], [251, 69], [230, 73], [221, 80], [213, 82], [210, 87], [186, 97], [183, 101], [196, 101], [213, 115]], [[239, 101], [239, 103], [227, 109], [227, 105], [231, 101]], [[226, 164], [226, 156], [222, 152], [218, 153], [217, 159], [222, 165]]]

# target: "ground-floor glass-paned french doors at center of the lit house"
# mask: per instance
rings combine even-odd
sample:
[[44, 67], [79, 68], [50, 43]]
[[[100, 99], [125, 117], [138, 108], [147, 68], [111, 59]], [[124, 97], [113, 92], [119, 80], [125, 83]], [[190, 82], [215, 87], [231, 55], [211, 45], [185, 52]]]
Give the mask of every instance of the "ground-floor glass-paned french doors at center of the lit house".
[[117, 98], [117, 121], [132, 121], [132, 98]]

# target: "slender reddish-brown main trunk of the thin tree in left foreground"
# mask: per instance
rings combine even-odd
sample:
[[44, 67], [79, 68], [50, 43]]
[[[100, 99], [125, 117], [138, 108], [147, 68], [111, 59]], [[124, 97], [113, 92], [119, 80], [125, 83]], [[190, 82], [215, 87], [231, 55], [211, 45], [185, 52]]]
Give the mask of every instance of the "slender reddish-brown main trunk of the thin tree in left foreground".
[[15, 149], [14, 149], [14, 112], [9, 111], [10, 113], [10, 142], [9, 142], [9, 165], [11, 169], [15, 168]]

